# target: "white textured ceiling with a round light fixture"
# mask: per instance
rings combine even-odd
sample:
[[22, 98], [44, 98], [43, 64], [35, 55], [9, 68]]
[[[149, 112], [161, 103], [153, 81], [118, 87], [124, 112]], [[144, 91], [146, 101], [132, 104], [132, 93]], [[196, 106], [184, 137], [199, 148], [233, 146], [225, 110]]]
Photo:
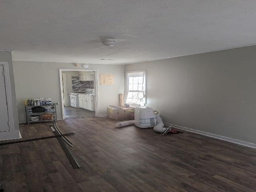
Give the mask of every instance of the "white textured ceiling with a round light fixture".
[[0, 0], [0, 49], [13, 60], [128, 64], [255, 44], [255, 19], [255, 0]]

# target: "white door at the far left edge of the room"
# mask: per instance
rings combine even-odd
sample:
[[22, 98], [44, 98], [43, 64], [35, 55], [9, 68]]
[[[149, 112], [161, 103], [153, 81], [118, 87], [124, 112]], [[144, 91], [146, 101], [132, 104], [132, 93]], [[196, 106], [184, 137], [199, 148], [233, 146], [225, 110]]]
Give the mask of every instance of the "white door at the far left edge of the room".
[[8, 125], [8, 108], [6, 101], [6, 90], [5, 90], [5, 82], [4, 82], [4, 66], [0, 65], [0, 132], [10, 131]]

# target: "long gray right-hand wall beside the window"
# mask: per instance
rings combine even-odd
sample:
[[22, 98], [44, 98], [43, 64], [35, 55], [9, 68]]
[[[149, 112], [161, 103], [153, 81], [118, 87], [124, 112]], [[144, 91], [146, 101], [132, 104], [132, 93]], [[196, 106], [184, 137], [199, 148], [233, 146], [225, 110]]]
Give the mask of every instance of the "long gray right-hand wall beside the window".
[[164, 122], [256, 144], [256, 46], [126, 65]]

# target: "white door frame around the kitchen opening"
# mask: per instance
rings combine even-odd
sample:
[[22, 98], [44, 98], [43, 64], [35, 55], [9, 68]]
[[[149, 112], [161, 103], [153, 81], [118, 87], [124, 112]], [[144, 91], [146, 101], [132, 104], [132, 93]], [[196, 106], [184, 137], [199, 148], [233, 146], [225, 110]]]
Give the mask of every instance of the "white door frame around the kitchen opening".
[[[94, 88], [95, 88], [95, 116], [100, 116], [99, 110], [99, 87], [98, 87], [98, 70], [97, 69], [59, 69], [60, 70], [60, 91], [63, 93], [62, 86], [62, 71], [94, 71]], [[65, 119], [65, 111], [64, 111], [64, 100], [61, 96], [61, 106], [62, 106], [62, 119]]]

